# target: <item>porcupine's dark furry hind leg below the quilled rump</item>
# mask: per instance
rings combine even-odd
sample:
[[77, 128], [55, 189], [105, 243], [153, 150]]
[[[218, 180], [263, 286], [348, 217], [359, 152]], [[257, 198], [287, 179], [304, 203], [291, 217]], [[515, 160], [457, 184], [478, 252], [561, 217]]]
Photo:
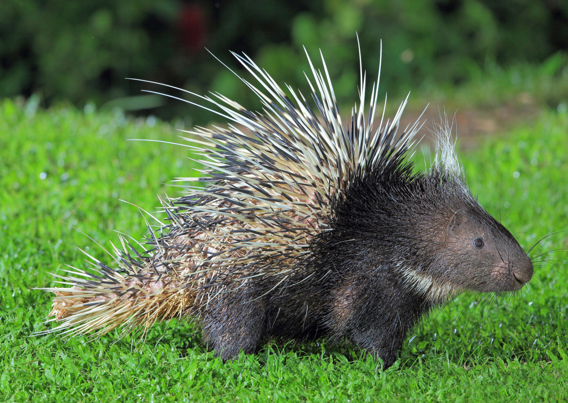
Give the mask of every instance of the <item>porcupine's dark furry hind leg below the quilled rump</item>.
[[202, 323], [209, 346], [223, 362], [237, 358], [241, 350], [253, 354], [265, 333], [264, 304], [262, 299], [224, 299], [207, 308]]

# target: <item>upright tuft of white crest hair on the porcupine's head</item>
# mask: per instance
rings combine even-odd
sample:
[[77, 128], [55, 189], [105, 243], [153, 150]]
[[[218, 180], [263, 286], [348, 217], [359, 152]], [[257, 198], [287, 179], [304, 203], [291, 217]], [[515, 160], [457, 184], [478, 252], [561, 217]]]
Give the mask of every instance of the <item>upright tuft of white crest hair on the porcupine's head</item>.
[[460, 159], [456, 153], [456, 141], [453, 140], [452, 137], [452, 129], [455, 120], [456, 117], [454, 116], [452, 123], [450, 123], [448, 116], [444, 112], [444, 117], [440, 114], [440, 123], [433, 123], [433, 129], [430, 131], [436, 142], [436, 155], [432, 167], [439, 171], [461, 177], [463, 170]]

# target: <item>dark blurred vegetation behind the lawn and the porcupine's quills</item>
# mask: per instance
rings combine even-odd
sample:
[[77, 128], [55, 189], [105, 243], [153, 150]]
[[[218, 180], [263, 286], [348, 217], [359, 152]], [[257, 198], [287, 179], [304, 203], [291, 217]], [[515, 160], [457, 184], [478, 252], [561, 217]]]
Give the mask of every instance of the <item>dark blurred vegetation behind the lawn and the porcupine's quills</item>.
[[373, 77], [383, 41], [381, 85], [396, 95], [461, 85], [495, 66], [537, 64], [566, 51], [568, 2], [3, 0], [0, 97], [38, 94], [44, 107], [69, 100], [79, 108], [119, 106], [206, 123], [211, 115], [140, 97], [141, 89], [155, 87], [125, 78], [198, 94], [220, 91], [254, 107], [243, 83], [206, 48], [240, 73], [229, 51], [245, 52], [277, 82], [306, 91], [305, 45], [312, 58], [321, 48], [340, 102], [351, 101], [358, 80], [356, 32], [363, 67]]

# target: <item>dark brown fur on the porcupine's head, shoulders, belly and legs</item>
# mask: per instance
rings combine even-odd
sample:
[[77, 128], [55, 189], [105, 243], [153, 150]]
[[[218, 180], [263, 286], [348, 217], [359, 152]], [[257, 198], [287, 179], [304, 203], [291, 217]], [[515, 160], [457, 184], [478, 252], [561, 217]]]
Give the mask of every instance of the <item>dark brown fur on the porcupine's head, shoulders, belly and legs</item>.
[[[527, 254], [460, 178], [410, 172], [399, 164], [354, 178], [333, 207], [333, 230], [314, 242], [304, 263], [310, 279], [292, 279], [272, 293], [278, 278], [252, 280], [204, 309], [204, 334], [216, 354], [249, 354], [266, 338], [347, 338], [388, 367], [412, 326], [448, 297], [417, 291], [399, 262], [450, 284], [450, 295], [513, 291], [531, 279]], [[477, 239], [485, 245], [475, 247]]]

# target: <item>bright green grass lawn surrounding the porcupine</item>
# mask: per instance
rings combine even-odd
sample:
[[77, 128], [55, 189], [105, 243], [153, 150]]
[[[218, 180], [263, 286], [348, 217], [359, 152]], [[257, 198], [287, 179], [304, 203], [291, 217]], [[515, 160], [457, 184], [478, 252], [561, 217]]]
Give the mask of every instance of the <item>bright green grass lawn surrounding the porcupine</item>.
[[[48, 272], [83, 266], [76, 249], [103, 246], [145, 223], [124, 199], [153, 211], [164, 184], [190, 175], [168, 124], [120, 114], [47, 112], [0, 103], [0, 397], [3, 401], [557, 401], [568, 379], [566, 254], [547, 255], [512, 297], [462, 295], [415, 329], [387, 371], [349, 346], [325, 341], [266, 346], [223, 364], [185, 322], [154, 326], [147, 339], [30, 337], [51, 304], [33, 287]], [[422, 156], [418, 158], [420, 161]], [[525, 247], [568, 224], [568, 116], [543, 112], [534, 127], [462, 155], [470, 186]], [[513, 173], [519, 173], [514, 174]], [[45, 173], [45, 179], [40, 179]], [[65, 221], [64, 224], [60, 219]], [[565, 233], [540, 249], [567, 247]], [[539, 248], [537, 248], [539, 249]], [[110, 262], [106, 258], [106, 262]], [[554, 264], [552, 264], [554, 263]]]

